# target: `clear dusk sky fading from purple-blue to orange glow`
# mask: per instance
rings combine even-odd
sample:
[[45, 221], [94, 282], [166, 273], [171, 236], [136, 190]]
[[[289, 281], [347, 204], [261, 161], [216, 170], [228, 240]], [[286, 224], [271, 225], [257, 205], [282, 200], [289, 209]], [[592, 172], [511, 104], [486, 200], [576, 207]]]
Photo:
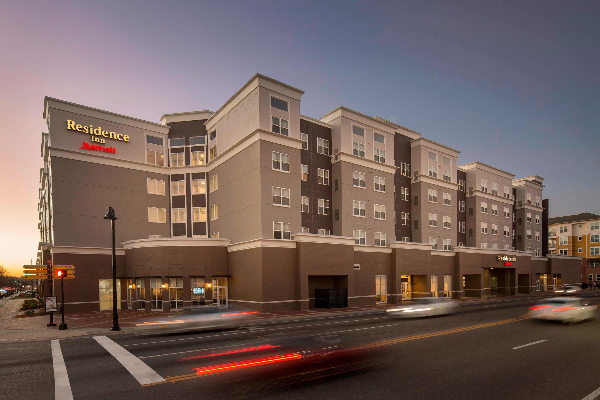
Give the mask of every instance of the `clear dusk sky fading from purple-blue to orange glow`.
[[[600, 213], [598, 2], [0, 0], [0, 262], [37, 254], [44, 95], [159, 122], [254, 73], [301, 113], [381, 116]], [[93, 177], [90, 177], [93, 179]], [[107, 231], [107, 234], [109, 232]]]

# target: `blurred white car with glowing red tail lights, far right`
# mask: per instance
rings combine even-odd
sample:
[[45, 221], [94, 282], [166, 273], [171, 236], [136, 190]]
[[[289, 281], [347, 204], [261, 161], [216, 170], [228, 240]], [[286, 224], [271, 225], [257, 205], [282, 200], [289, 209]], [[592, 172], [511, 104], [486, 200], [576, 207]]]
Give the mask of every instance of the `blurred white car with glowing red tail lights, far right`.
[[542, 300], [529, 309], [533, 310], [531, 318], [569, 324], [593, 320], [598, 311], [596, 306], [590, 305], [586, 299], [580, 297], [553, 297]]

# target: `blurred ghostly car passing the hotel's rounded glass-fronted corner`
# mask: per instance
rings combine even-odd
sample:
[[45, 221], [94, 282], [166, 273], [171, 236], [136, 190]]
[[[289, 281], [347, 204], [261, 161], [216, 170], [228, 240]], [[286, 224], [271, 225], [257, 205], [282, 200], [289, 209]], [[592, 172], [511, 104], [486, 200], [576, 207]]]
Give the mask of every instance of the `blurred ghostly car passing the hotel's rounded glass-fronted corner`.
[[151, 321], [136, 324], [142, 329], [161, 332], [169, 330], [205, 330], [205, 329], [237, 329], [247, 322], [258, 311], [239, 307], [203, 307], [185, 309], [177, 315], [161, 315]]

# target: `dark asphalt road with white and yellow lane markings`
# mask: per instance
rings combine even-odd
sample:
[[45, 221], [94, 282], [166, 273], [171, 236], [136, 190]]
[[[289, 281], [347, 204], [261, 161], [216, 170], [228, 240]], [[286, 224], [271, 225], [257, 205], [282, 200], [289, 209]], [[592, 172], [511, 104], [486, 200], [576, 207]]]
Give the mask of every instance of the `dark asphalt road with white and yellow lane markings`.
[[[585, 296], [600, 305], [598, 292]], [[531, 320], [526, 314], [534, 301], [470, 304], [454, 315], [410, 320], [365, 311], [351, 317], [260, 321], [234, 331], [62, 339], [54, 344], [54, 361], [50, 342], [13, 343], [2, 351], [0, 398], [18, 399], [24, 387], [29, 391], [22, 398], [28, 399], [52, 399], [55, 392], [57, 399], [67, 398], [68, 389], [74, 399], [585, 398], [600, 387], [600, 319], [572, 326]], [[385, 364], [283, 387], [260, 386], [258, 380], [254, 387], [253, 380], [240, 383], [239, 371], [197, 375], [194, 370], [313, 347], [381, 342], [386, 345], [377, 348], [383, 349]], [[67, 387], [54, 384], [55, 374], [61, 374], [57, 347]], [[221, 355], [202, 357], [212, 354]], [[19, 373], [23, 365], [37, 372]], [[238, 392], [241, 387], [251, 390]]]

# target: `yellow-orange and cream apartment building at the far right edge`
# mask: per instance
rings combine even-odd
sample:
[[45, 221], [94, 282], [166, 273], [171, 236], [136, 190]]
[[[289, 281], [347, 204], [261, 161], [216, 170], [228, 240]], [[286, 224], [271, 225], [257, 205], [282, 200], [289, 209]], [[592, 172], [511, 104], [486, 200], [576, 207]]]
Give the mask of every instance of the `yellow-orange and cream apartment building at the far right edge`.
[[600, 284], [600, 215], [583, 212], [548, 219], [548, 250], [581, 257], [581, 282]]

